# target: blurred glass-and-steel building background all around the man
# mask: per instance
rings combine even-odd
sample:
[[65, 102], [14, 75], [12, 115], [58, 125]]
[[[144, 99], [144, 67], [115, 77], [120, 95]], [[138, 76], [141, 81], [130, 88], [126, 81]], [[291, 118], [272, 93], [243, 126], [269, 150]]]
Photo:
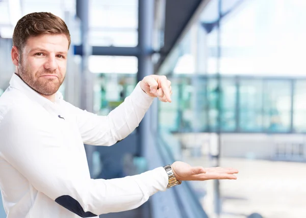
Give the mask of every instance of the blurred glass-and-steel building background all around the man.
[[92, 178], [175, 160], [240, 171], [100, 217], [306, 217], [305, 9], [303, 0], [0, 0], [0, 95], [14, 73], [16, 22], [52, 12], [72, 39], [66, 101], [107, 115], [144, 76], [172, 81], [172, 103], [155, 100], [129, 137], [85, 145]]

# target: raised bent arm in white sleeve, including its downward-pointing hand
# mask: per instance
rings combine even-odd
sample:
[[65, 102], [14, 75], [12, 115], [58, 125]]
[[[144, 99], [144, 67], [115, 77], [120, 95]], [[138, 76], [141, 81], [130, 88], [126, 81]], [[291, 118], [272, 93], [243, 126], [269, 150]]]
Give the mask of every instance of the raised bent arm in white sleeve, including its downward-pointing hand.
[[110, 112], [97, 116], [67, 103], [74, 111], [83, 142], [89, 145], [110, 146], [127, 137], [140, 123], [154, 97], [171, 102], [171, 82], [166, 76], [150, 75], [141, 80], [132, 94]]

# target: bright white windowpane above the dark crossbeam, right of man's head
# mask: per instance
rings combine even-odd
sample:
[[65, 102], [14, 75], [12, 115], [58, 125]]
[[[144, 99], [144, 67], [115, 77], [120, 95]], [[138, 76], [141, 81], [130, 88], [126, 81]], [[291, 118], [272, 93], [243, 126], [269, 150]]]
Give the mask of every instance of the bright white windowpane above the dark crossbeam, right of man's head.
[[138, 1], [90, 1], [89, 43], [92, 46], [138, 44]]

